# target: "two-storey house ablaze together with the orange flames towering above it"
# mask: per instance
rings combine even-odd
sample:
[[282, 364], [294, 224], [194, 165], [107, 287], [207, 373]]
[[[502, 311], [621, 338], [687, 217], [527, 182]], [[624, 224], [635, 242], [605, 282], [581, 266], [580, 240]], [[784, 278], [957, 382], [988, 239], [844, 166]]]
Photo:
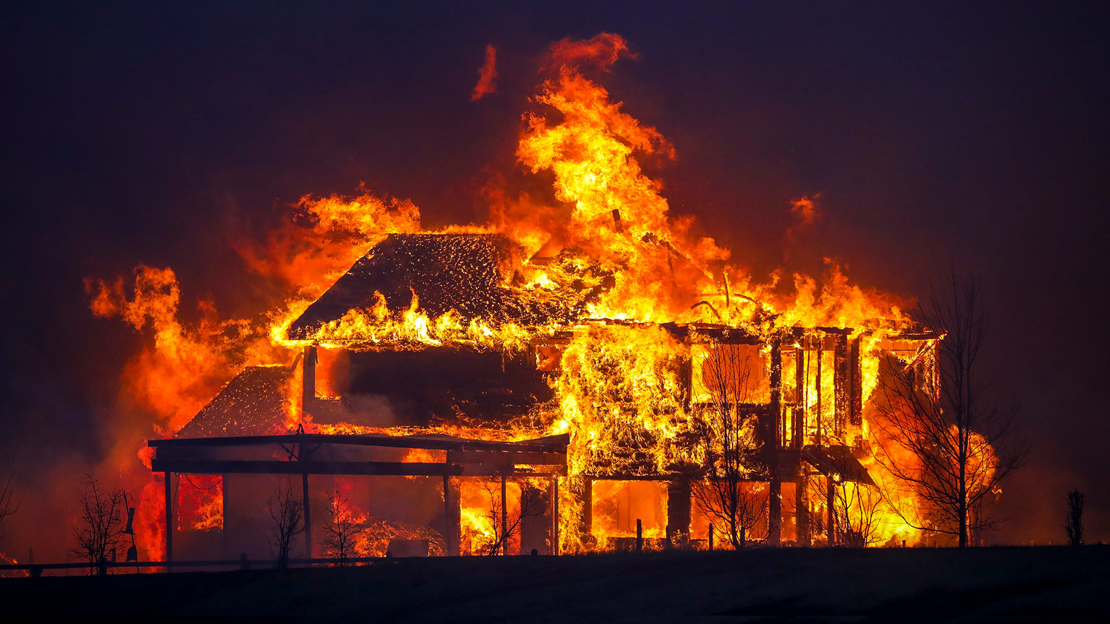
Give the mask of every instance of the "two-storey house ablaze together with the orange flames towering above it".
[[[344, 517], [366, 523], [344, 556], [392, 541], [423, 554], [918, 541], [918, 506], [886, 499], [912, 493], [875, 461], [875, 390], [895, 369], [931, 379], [942, 336], [831, 263], [821, 288], [759, 283], [672, 219], [638, 159], [673, 148], [577, 69], [626, 51], [610, 34], [554, 48], [574, 63], [552, 66], [517, 157], [557, 201], [496, 193], [490, 224], [425, 232], [410, 203], [303, 199], [270, 248], [244, 251], [293, 289], [269, 328], [232, 323], [239, 351], [175, 321], [172, 272], [133, 301], [90, 285], [98, 314], [154, 320], [148, 361], [195, 362], [135, 379], [241, 366], [150, 442], [162, 482], [143, 507], [164, 489], [167, 515], [147, 526], [167, 531], [148, 547], [203, 542], [188, 515], [226, 550], [256, 530], [259, 480], [297, 475], [307, 555], [325, 554], [311, 519], [334, 507], [336, 480]], [[794, 210], [813, 220], [806, 201]], [[175, 351], [216, 343], [219, 358]], [[190, 477], [188, 502], [190, 474], [219, 476]]]

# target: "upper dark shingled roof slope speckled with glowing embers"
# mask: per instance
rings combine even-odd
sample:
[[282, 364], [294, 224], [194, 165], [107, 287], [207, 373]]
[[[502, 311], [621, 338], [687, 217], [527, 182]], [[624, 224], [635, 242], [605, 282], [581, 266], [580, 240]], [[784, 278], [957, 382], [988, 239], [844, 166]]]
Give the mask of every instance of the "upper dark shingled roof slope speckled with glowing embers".
[[577, 318], [581, 298], [512, 283], [516, 251], [501, 234], [390, 234], [293, 321], [287, 335], [309, 339], [351, 310], [370, 310], [376, 293], [391, 311], [407, 309], [415, 293], [432, 319], [452, 310], [464, 322], [522, 326]]

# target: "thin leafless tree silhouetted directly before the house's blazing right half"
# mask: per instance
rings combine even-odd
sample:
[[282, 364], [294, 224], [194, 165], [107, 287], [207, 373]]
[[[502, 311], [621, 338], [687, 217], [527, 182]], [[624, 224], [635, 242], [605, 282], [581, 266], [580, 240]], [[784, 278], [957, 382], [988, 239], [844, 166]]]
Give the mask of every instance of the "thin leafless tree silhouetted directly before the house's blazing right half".
[[733, 547], [743, 548], [766, 519], [766, 496], [753, 492], [749, 480], [758, 466], [756, 409], [749, 404], [751, 368], [743, 345], [713, 344], [702, 366], [710, 405], [710, 440], [705, 477], [693, 483], [696, 504], [720, 522]]

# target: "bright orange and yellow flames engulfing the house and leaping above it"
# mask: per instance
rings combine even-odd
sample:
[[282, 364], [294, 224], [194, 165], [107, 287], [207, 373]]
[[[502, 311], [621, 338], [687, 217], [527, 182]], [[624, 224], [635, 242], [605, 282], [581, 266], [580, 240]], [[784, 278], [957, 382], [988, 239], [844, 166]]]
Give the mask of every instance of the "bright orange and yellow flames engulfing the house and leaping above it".
[[[878, 383], [880, 359], [888, 351], [886, 341], [912, 326], [902, 312], [907, 303], [851, 283], [833, 260], [827, 260], [820, 279], [775, 272], [759, 280], [729, 263], [730, 252], [716, 241], [694, 235], [692, 219], [673, 218], [662, 181], [653, 179], [642, 162], [672, 160], [674, 147], [657, 129], [625, 112], [622, 102], [613, 101], [581, 69], [607, 70], [627, 54], [627, 43], [608, 33], [553, 46], [551, 72], [533, 98], [534, 110], [525, 118], [516, 158], [532, 173], [552, 178], [555, 205], [525, 193], [513, 199], [506, 189], [492, 184], [486, 190], [490, 223], [438, 232], [507, 238], [514, 249], [505, 261], [511, 268], [501, 288], [521, 301], [562, 310], [563, 319], [523, 323], [467, 316], [454, 309], [430, 314], [421, 304], [426, 293], [411, 290], [407, 301], [396, 296], [391, 301], [377, 291], [369, 305], [294, 332], [294, 321], [389, 234], [431, 233], [422, 229], [420, 211], [407, 200], [377, 198], [365, 189], [354, 198], [305, 195], [290, 207], [265, 242], [236, 244], [248, 269], [273, 280], [284, 292], [280, 311], [266, 323], [220, 320], [210, 302], [200, 304], [198, 323], [182, 322], [178, 318], [181, 289], [170, 269], [138, 268], [130, 296], [122, 278], [87, 282], [94, 314], [121, 316], [137, 330], [153, 329], [153, 345], [124, 372], [129, 399], [159, 416], [152, 433], [175, 432], [243, 366], [287, 365], [296, 350], [310, 345], [325, 352], [451, 348], [532, 353], [547, 373], [554, 400], [529, 413], [527, 425], [493, 429], [448, 414], [428, 427], [311, 422], [300, 407], [305, 399], [299, 394], [300, 378], [290, 382], [285, 424], [329, 434], [445, 433], [486, 440], [567, 433], [572, 486], [561, 491], [562, 523], [572, 525], [589, 506], [604, 543], [605, 537], [627, 536], [628, 512], [620, 511], [619, 499], [622, 492], [642, 486], [602, 485], [587, 500], [575, 491], [587, 474], [614, 479], [663, 474], [676, 466], [704, 466], [719, 456], [720, 449], [706, 439], [714, 426], [707, 404], [714, 394], [726, 391], [704, 379], [704, 366], [722, 349], [739, 349], [716, 342], [712, 332], [724, 329], [744, 332], [761, 345], [746, 352], [753, 369], [770, 370], [768, 345], [773, 342], [786, 349], [779, 371], [781, 400], [804, 414], [807, 424], [795, 431], [793, 423], [785, 422], [784, 437], [854, 449], [874, 442], [875, 432], [866, 419], [838, 429], [836, 411], [842, 407], [837, 407], [837, 401], [844, 396], [835, 397], [828, 390], [823, 396], [821, 389], [834, 388], [836, 349], [851, 341], [859, 351], [859, 395], [868, 404]], [[493, 63], [490, 48], [488, 71], [482, 74], [488, 84], [482, 93], [492, 90]], [[819, 217], [817, 197], [791, 204], [804, 224]], [[841, 346], [835, 346], [836, 341]], [[339, 391], [326, 370], [321, 366], [317, 372], [317, 389], [322, 397], [337, 400]], [[770, 400], [768, 376], [756, 376], [739, 403]], [[989, 456], [988, 451], [983, 456]], [[442, 457], [412, 451], [404, 461]], [[892, 477], [872, 459], [861, 461], [877, 491], [911, 496], [897, 493]], [[509, 490], [508, 512], [514, 513], [512, 504], [516, 504], [518, 513], [521, 486], [514, 483]], [[142, 509], [158, 509], [157, 492], [157, 487], [144, 490]], [[490, 551], [498, 539], [491, 509], [500, 504], [500, 492], [495, 496], [488, 483], [464, 481], [462, 493], [463, 543], [471, 552]], [[816, 511], [824, 504], [818, 502]], [[191, 521], [194, 526], [222, 525], [218, 520], [222, 507], [218, 513], [214, 499], [188, 506], [196, 519]], [[910, 525], [918, 519], [898, 516], [882, 502], [877, 509], [880, 541], [916, 541]], [[852, 513], [850, 506], [848, 513]], [[653, 522], [645, 534], [664, 537], [665, 514], [652, 517], [662, 519], [663, 524]], [[158, 522], [141, 524], [150, 532], [144, 540], [148, 548], [155, 547]], [[437, 547], [443, 551], [438, 535], [413, 533], [385, 521], [367, 526], [361, 553], [384, 554], [389, 540], [398, 535], [438, 539]], [[582, 546], [571, 533], [563, 534], [564, 547]]]

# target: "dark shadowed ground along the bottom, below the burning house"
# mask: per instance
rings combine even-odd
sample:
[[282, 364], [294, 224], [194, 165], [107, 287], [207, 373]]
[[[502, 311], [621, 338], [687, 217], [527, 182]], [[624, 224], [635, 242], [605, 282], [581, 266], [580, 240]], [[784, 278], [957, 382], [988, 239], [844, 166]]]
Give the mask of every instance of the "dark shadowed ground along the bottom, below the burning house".
[[0, 580], [8, 613], [371, 622], [1106, 621], [1110, 548], [395, 558], [366, 567]]

